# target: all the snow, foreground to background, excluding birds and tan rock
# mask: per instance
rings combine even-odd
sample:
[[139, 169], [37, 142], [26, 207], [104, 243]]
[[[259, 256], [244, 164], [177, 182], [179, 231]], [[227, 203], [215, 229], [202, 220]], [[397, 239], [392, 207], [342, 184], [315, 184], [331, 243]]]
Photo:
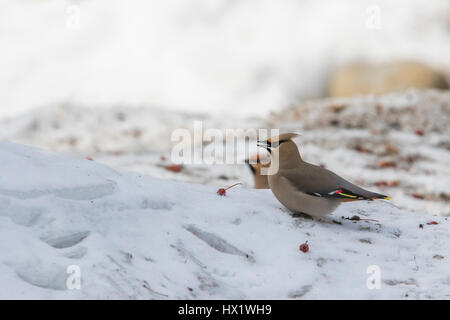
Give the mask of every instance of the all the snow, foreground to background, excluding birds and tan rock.
[[[0, 298], [448, 299], [449, 91], [308, 99], [351, 61], [448, 75], [449, 5], [1, 1]], [[392, 200], [315, 221], [243, 164], [166, 170], [172, 132], [198, 120], [300, 130], [304, 159]]]

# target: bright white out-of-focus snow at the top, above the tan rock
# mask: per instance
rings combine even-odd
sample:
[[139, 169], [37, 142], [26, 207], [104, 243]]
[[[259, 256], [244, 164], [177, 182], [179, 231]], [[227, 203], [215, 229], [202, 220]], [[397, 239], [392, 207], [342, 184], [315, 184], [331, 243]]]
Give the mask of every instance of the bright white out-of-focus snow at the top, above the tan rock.
[[330, 74], [350, 61], [413, 59], [448, 73], [449, 8], [447, 0], [2, 0], [0, 116], [55, 103], [267, 114], [324, 96]]

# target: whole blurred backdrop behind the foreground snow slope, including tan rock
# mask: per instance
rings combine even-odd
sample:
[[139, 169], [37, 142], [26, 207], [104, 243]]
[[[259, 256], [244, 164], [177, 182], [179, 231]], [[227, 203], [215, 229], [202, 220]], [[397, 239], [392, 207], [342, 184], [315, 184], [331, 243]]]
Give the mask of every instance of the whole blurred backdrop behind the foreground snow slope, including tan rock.
[[295, 129], [306, 160], [450, 215], [448, 0], [2, 0], [0, 46], [1, 141], [251, 187], [173, 167], [171, 132]]

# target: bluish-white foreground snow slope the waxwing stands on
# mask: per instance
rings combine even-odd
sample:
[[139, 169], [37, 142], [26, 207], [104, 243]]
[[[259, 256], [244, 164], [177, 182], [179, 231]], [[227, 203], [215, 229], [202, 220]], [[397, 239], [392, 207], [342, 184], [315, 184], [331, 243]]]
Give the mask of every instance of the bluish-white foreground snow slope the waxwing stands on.
[[[353, 215], [378, 222], [341, 218]], [[1, 143], [0, 298], [448, 299], [450, 225], [433, 220], [377, 201], [313, 221], [269, 190], [220, 197]], [[69, 265], [81, 290], [66, 289]], [[366, 287], [370, 265], [379, 290]]]

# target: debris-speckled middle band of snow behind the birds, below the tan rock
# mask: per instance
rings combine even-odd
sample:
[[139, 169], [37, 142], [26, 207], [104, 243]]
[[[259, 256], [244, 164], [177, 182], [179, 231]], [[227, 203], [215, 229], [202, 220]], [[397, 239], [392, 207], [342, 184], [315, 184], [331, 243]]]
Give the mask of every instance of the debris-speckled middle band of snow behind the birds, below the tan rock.
[[[267, 117], [189, 114], [154, 106], [56, 104], [0, 120], [0, 141], [91, 157], [114, 168], [161, 179], [215, 187], [242, 182], [251, 187], [251, 173], [244, 165], [202, 163], [186, 165], [178, 173], [165, 170], [164, 166], [171, 164], [171, 134], [180, 128], [193, 132], [194, 121], [203, 121], [204, 130], [222, 132], [280, 128], [301, 132], [298, 144], [306, 161], [392, 196], [392, 203], [401, 208], [449, 216], [449, 107], [450, 93], [438, 90], [317, 99]], [[341, 111], [336, 112], [337, 108]], [[416, 134], [418, 129], [423, 136]], [[396, 167], [379, 168], [381, 161], [392, 161]], [[398, 185], [379, 186], [379, 182]]]

